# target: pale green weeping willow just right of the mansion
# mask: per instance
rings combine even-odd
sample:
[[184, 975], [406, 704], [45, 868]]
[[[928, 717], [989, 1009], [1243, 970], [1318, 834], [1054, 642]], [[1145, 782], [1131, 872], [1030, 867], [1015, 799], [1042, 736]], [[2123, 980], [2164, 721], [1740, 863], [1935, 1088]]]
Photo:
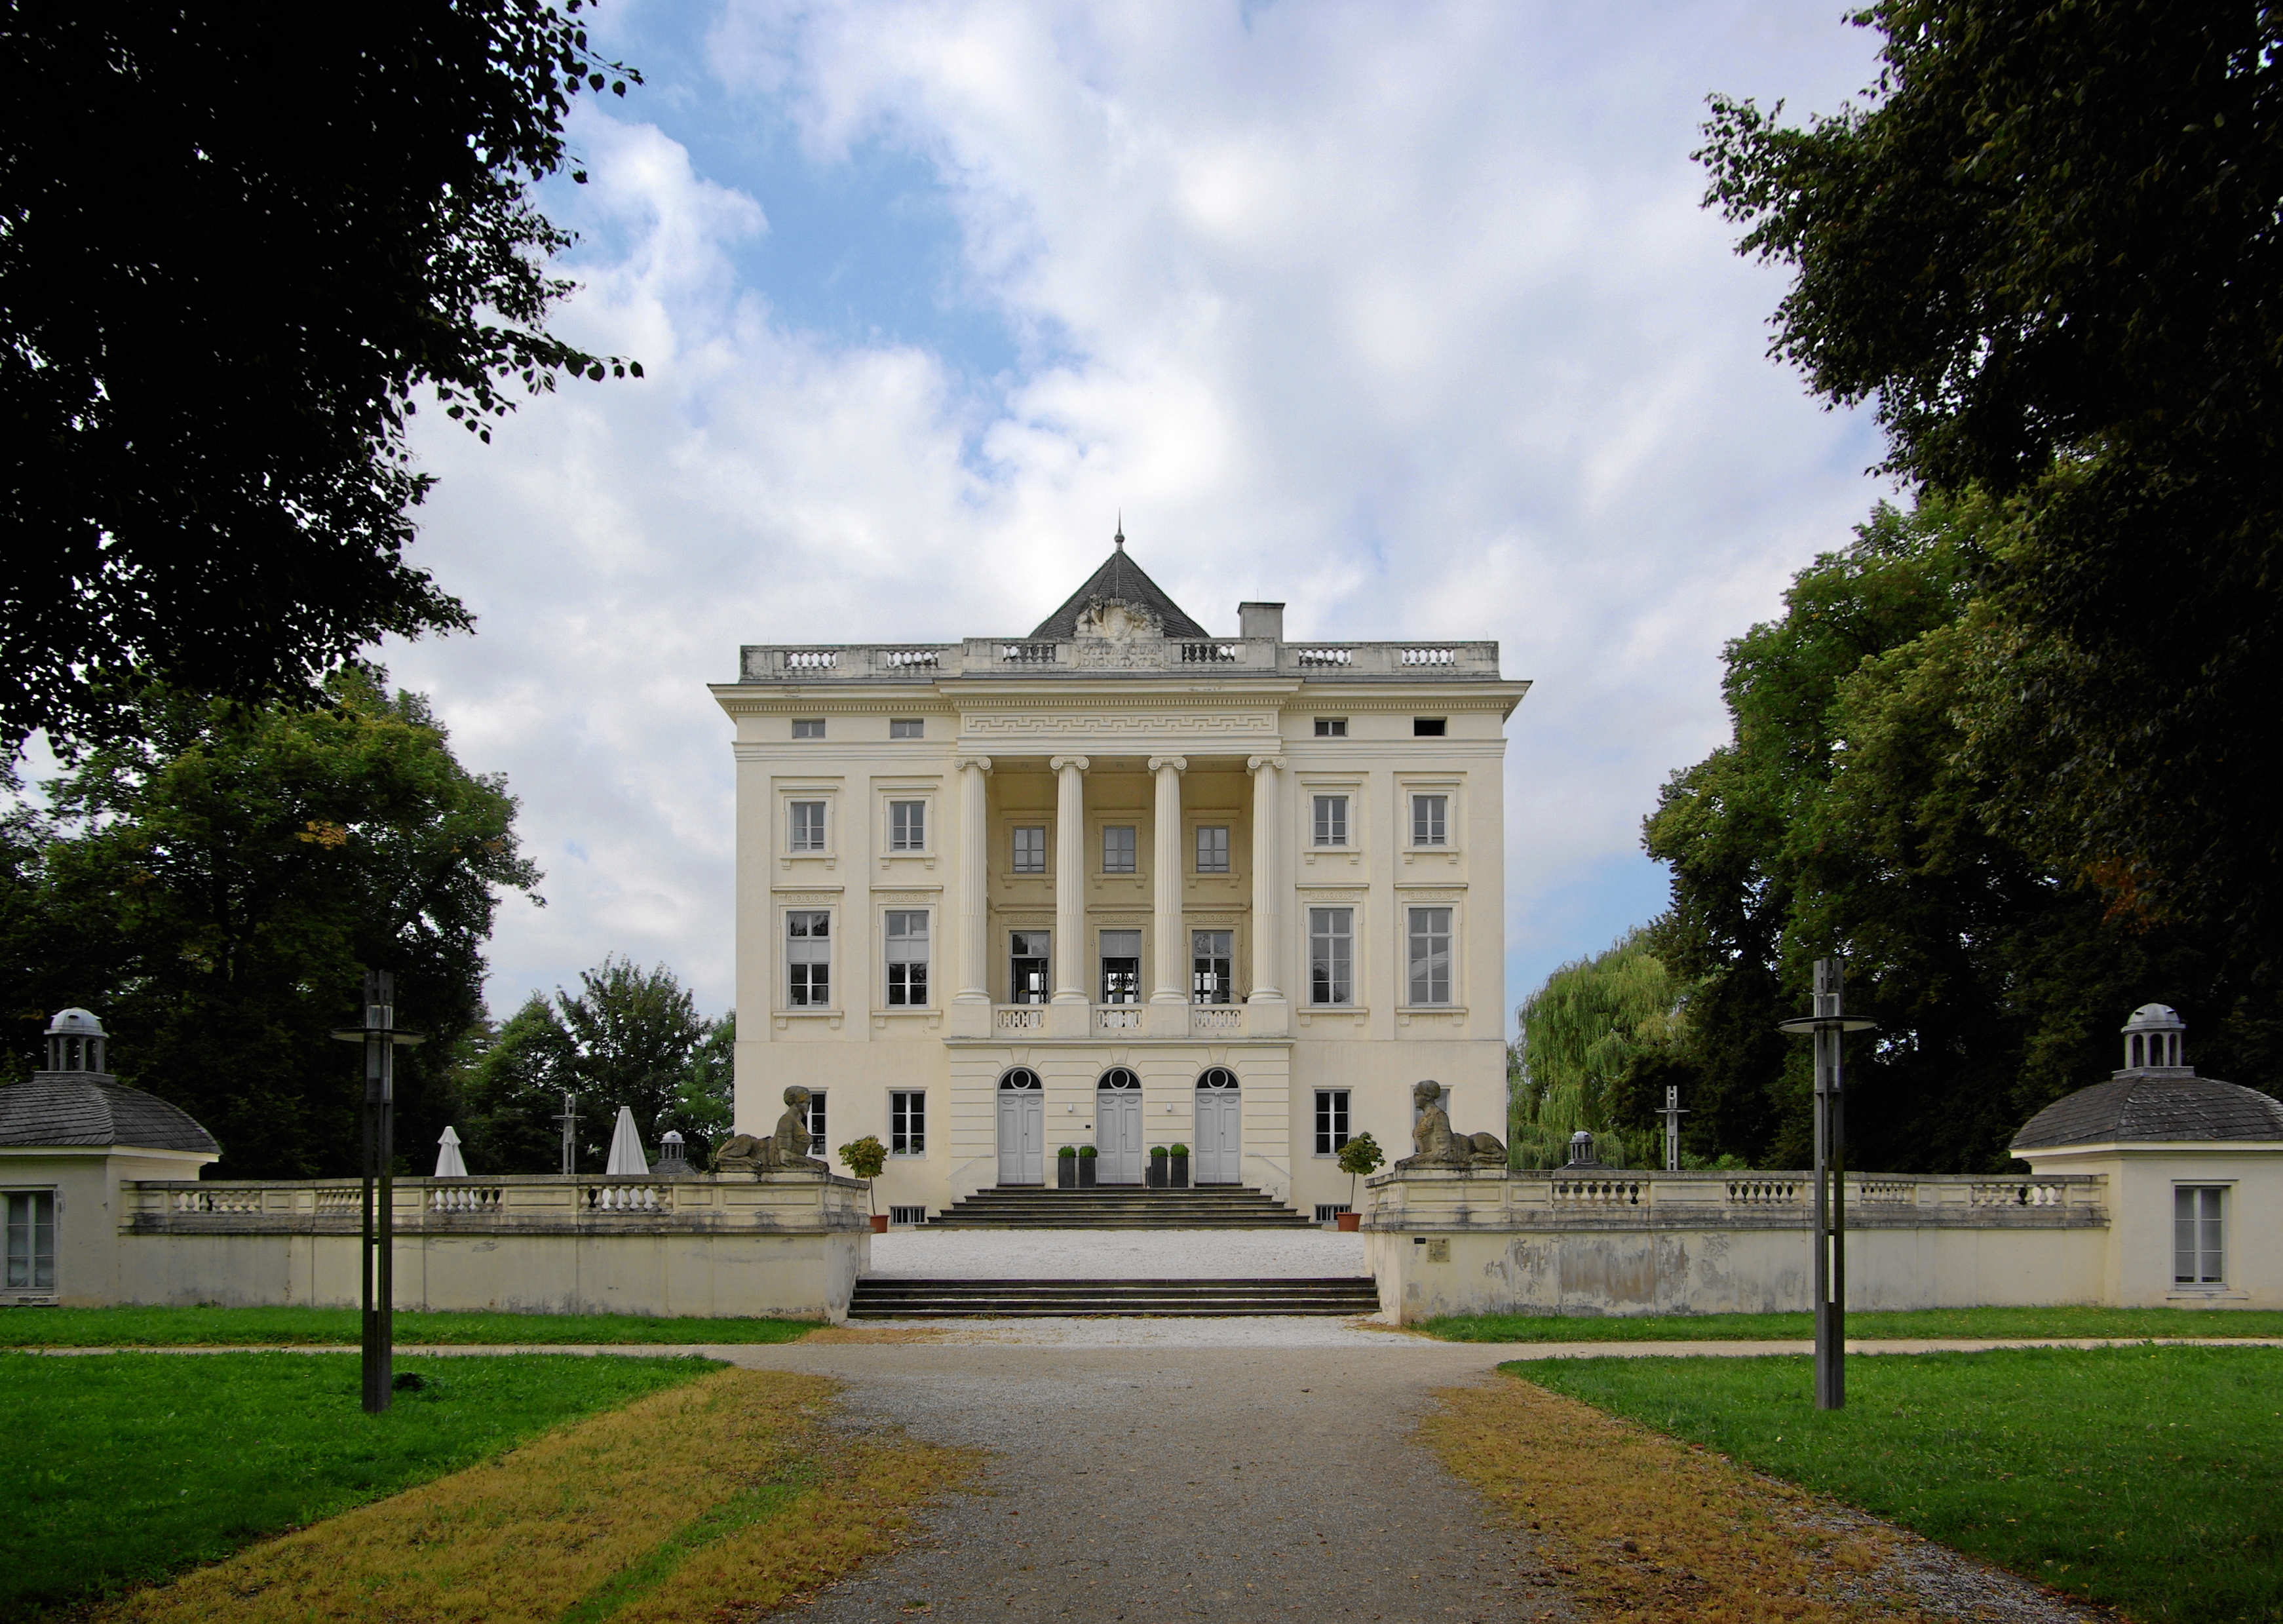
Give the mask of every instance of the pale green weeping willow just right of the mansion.
[[1683, 1064], [1685, 991], [1648, 950], [1646, 927], [1546, 978], [1520, 1007], [1509, 1067], [1516, 1167], [1559, 1167], [1580, 1128], [1614, 1167], [1657, 1160], [1657, 1131], [1641, 1124], [1662, 1103], [1664, 1074]]

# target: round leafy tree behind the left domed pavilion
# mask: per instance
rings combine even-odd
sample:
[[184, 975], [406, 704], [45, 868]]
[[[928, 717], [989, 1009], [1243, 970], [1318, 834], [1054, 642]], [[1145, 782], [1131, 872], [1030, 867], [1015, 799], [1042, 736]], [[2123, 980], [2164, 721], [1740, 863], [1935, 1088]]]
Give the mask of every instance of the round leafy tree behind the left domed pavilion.
[[363, 1074], [329, 1032], [354, 1023], [365, 966], [395, 971], [400, 1021], [434, 1039], [397, 1060], [418, 1165], [479, 1019], [498, 893], [539, 882], [505, 781], [454, 761], [422, 697], [358, 667], [326, 688], [324, 710], [139, 690], [132, 738], [48, 786], [37, 873], [16, 875], [57, 964], [9, 1012], [96, 1010], [119, 1074], [203, 1121], [228, 1176], [356, 1169]]

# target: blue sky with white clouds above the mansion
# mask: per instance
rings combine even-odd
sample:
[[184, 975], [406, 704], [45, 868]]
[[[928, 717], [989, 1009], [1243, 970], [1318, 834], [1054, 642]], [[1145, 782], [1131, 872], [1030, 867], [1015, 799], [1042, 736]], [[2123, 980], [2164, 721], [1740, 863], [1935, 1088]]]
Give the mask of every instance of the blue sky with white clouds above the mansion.
[[1883, 487], [1765, 359], [1781, 274], [1699, 208], [1703, 96], [1836, 107], [1838, 0], [605, 0], [573, 123], [573, 384], [422, 418], [393, 646], [546, 868], [493, 1007], [607, 952], [731, 998], [742, 642], [1021, 633], [1107, 553], [1205, 626], [1495, 637], [1509, 1005], [1664, 898], [1719, 649]]

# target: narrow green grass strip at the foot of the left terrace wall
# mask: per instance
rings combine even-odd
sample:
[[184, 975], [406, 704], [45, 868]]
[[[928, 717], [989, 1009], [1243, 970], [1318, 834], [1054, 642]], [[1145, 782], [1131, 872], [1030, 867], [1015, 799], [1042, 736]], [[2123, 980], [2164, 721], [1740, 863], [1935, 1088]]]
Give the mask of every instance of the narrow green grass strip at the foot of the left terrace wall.
[[[356, 1309], [0, 1309], [0, 1348], [356, 1348]], [[397, 1313], [397, 1345], [790, 1343], [813, 1320], [664, 1320], [639, 1313]]]

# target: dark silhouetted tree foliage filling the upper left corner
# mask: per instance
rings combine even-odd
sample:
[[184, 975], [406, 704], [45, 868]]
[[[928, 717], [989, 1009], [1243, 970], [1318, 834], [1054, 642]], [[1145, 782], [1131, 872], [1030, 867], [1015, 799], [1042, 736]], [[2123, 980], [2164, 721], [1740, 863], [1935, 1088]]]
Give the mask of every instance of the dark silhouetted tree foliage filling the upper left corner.
[[[14, 0], [0, 55], [0, 754], [130, 724], [87, 676], [310, 704], [466, 628], [404, 544], [434, 391], [637, 372], [548, 336], [582, 0]], [[582, 174], [573, 174], [584, 180]]]

